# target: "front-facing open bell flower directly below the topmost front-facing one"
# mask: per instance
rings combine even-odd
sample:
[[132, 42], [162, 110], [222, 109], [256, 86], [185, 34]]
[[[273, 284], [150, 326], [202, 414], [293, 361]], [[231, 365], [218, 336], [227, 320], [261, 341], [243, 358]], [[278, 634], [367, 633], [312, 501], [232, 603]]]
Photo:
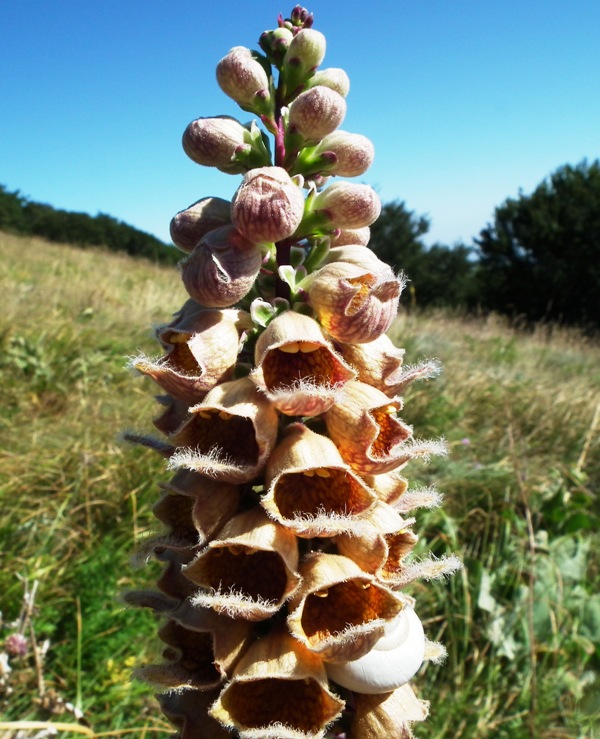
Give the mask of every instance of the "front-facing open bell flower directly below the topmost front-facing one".
[[269, 515], [303, 538], [356, 533], [376, 501], [331, 439], [300, 423], [273, 450], [265, 484]]

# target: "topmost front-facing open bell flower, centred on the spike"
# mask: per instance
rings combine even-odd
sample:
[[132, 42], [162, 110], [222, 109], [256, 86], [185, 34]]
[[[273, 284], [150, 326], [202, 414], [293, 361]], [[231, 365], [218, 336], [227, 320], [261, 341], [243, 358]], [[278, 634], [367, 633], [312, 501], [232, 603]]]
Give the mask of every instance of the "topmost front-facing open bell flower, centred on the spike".
[[343, 361], [309, 316], [286, 311], [256, 342], [250, 377], [282, 413], [315, 416], [335, 402], [355, 372]]

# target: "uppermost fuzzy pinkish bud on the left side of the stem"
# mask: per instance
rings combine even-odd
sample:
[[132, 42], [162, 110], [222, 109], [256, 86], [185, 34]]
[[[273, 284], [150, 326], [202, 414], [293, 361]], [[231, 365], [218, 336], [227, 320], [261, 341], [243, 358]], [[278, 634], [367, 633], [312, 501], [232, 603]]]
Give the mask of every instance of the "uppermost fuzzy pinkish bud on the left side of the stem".
[[217, 82], [242, 108], [270, 112], [269, 77], [256, 55], [245, 46], [234, 46], [217, 64]]

